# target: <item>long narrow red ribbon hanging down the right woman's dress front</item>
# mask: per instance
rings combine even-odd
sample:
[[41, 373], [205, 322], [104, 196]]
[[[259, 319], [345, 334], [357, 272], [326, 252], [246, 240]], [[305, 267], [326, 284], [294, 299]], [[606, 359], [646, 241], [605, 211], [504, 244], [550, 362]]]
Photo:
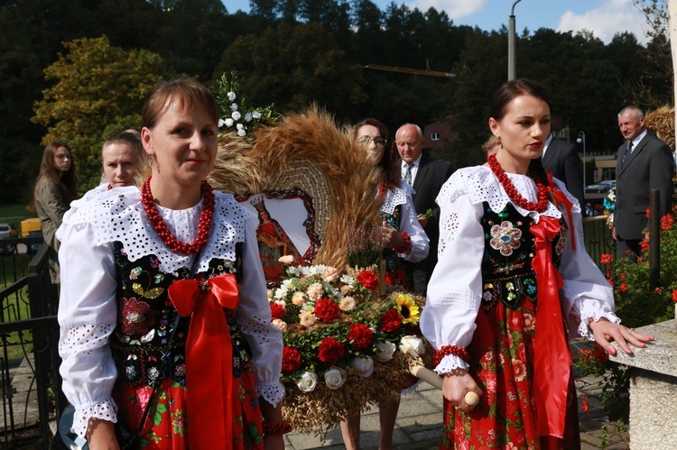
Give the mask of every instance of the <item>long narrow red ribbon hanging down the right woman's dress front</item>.
[[533, 399], [540, 436], [564, 435], [570, 353], [561, 317], [560, 272], [552, 265], [552, 239], [560, 231], [553, 217], [541, 216], [530, 228], [536, 255], [532, 261], [536, 273], [536, 334], [533, 337]]

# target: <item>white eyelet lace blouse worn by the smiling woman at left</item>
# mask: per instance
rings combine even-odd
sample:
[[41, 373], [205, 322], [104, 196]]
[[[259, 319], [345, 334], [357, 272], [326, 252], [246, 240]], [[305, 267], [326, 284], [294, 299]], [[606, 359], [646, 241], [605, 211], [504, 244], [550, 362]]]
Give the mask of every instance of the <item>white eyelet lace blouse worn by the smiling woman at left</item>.
[[[284, 397], [279, 381], [283, 337], [271, 324], [264, 274], [256, 246], [256, 217], [231, 195], [215, 192], [216, 207], [209, 242], [199, 256], [198, 272], [213, 258], [235, 261], [235, 245], [244, 242], [243, 280], [236, 321], [252, 350], [256, 390], [276, 405]], [[198, 234], [202, 201], [195, 207], [158, 207], [165, 223], [182, 242]], [[108, 339], [116, 327], [116, 262], [113, 243], [123, 243], [130, 261], [153, 254], [165, 273], [190, 267], [194, 256], [169, 251], [147, 220], [137, 188], [115, 188], [76, 200], [64, 216], [61, 241], [59, 353], [63, 391], [75, 407], [72, 430], [87, 431], [89, 418], [116, 422], [111, 399], [116, 366]]]

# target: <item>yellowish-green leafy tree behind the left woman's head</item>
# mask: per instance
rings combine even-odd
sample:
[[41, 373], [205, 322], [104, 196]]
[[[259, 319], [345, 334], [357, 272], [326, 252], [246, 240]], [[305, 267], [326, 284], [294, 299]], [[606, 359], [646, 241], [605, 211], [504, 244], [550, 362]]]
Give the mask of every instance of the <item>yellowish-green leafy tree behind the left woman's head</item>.
[[67, 54], [45, 69], [55, 80], [34, 105], [32, 121], [48, 128], [42, 144], [69, 144], [80, 186], [101, 175], [101, 142], [111, 133], [138, 129], [144, 96], [170, 73], [157, 54], [111, 47], [106, 36], [64, 42]]

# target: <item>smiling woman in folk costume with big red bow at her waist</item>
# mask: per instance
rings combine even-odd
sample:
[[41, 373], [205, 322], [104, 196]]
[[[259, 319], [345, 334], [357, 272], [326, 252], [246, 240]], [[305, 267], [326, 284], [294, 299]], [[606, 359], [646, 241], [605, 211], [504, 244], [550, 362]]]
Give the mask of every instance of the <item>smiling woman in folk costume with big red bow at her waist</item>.
[[218, 115], [195, 80], [155, 87], [151, 176], [76, 202], [60, 227], [60, 372], [92, 450], [118, 447], [114, 422], [140, 429], [138, 448], [283, 449], [283, 340], [257, 220], [205, 181]]

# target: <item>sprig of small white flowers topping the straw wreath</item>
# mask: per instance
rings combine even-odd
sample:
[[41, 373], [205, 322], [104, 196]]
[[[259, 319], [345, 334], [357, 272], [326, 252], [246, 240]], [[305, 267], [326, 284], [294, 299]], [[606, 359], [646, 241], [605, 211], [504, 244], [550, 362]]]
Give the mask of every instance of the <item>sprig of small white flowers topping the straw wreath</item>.
[[230, 79], [226, 74], [221, 75], [212, 88], [222, 115], [218, 119], [219, 129], [225, 127], [226, 130], [234, 130], [238, 136], [244, 137], [253, 132], [258, 124], [269, 124], [280, 119], [282, 115], [275, 111], [274, 105], [247, 108], [245, 98], [238, 98], [236, 94], [239, 88], [236, 72], [230, 73]]

